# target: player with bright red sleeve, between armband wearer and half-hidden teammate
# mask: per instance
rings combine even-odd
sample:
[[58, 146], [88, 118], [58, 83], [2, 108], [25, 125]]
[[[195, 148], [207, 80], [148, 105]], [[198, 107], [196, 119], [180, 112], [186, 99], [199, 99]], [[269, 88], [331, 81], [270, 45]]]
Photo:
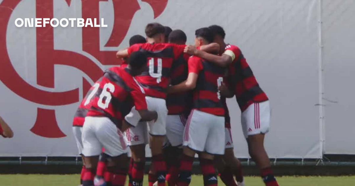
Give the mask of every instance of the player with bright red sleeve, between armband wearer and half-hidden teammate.
[[[209, 28], [195, 32], [196, 47], [212, 43]], [[188, 61], [187, 80], [171, 86], [169, 93], [193, 90], [193, 109], [185, 125], [183, 156], [180, 162], [178, 186], [191, 182], [191, 169], [195, 153], [199, 153], [204, 185], [217, 186], [213, 165], [214, 155], [224, 154], [224, 106], [218, 87], [223, 82], [225, 68], [193, 56]]]

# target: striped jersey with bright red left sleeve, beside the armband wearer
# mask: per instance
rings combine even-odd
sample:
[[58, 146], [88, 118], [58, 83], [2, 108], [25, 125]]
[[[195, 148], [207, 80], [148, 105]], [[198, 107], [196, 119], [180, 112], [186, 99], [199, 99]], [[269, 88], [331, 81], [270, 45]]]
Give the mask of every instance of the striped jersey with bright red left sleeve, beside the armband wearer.
[[200, 57], [189, 59], [189, 73], [198, 74], [196, 88], [193, 91], [193, 108], [202, 112], [224, 116], [223, 100], [218, 86], [223, 83], [226, 69]]

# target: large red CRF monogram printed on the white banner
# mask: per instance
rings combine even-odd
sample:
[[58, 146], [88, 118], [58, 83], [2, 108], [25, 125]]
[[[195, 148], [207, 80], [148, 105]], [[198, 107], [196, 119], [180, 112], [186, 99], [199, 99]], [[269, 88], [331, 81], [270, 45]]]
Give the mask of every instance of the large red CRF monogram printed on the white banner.
[[[50, 91], [51, 88], [55, 88], [54, 66], [71, 66], [86, 74], [87, 76], [85, 78], [82, 77], [81, 80], [83, 84], [83, 95], [85, 95], [91, 87], [87, 78], [90, 78], [91, 81], [96, 81], [103, 73], [102, 69], [94, 61], [102, 65], [117, 64], [115, 51], [105, 50], [105, 48], [118, 47], [121, 44], [131, 25], [134, 14], [141, 8], [138, 4], [138, 0], [82, 0], [80, 16], [84, 19], [96, 18], [99, 20], [100, 5], [102, 5], [100, 2], [107, 3], [106, 6], [108, 4], [113, 6], [114, 12], [113, 15], [111, 15], [113, 22], [106, 22], [106, 24], [111, 24], [113, 28], [110, 36], [105, 41], [100, 41], [100, 29], [102, 28], [81, 28], [82, 52], [87, 55], [82, 55], [82, 53], [71, 50], [55, 49], [55, 30], [53, 27], [33, 28], [35, 29], [35, 49], [33, 49], [33, 52], [35, 53], [35, 69], [37, 71], [33, 72], [36, 73], [37, 76], [37, 85], [33, 85], [24, 80], [15, 70], [10, 60], [7, 43], [7, 26], [9, 24], [15, 24], [14, 22], [10, 22], [10, 17], [24, 1], [27, 3], [33, 2], [35, 4], [33, 5], [35, 6], [34, 18], [53, 18], [55, 11], [61, 11], [61, 9], [56, 9], [56, 4], [65, 3], [65, 6], [71, 8], [72, 0], [0, 1], [0, 24], [2, 25], [0, 28], [0, 80], [18, 96], [43, 106], [69, 105], [80, 101], [79, 87], [59, 92]], [[154, 18], [158, 17], [164, 11], [168, 2], [168, 0], [141, 1], [148, 3], [152, 7]], [[17, 12], [16, 15], [21, 16], [21, 12]], [[31, 131], [43, 137], [59, 138], [66, 136], [58, 126], [55, 118], [55, 110], [48, 108], [37, 108], [37, 119]]]

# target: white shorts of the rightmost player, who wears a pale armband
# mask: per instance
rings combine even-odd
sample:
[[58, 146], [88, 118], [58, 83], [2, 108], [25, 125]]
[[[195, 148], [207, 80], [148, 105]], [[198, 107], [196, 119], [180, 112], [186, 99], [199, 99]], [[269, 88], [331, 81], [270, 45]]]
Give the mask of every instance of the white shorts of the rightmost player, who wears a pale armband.
[[266, 134], [270, 129], [270, 102], [251, 104], [241, 114], [241, 124], [245, 138], [255, 134]]

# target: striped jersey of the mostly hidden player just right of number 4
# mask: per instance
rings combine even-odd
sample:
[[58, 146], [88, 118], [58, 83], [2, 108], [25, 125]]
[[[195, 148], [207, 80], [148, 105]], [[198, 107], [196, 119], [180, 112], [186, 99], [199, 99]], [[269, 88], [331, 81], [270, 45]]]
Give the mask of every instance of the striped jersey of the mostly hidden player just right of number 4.
[[[182, 54], [171, 67], [171, 85], [177, 85], [187, 79], [189, 67], [187, 61], [190, 55]], [[192, 92], [179, 92], [176, 94], [168, 94], [166, 97], [166, 107], [169, 115], [180, 115], [190, 113], [192, 107]]]

